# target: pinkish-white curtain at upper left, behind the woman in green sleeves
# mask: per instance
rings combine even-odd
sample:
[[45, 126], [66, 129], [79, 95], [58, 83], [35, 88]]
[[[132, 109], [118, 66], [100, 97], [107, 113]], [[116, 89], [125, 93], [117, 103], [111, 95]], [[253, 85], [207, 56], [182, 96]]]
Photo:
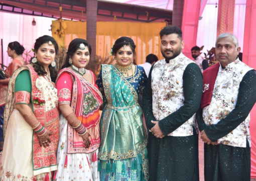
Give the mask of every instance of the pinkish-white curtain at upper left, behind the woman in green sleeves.
[[[35, 18], [36, 25], [32, 25]], [[3, 39], [4, 65], [8, 66], [11, 57], [7, 54], [9, 42], [19, 41], [24, 47], [25, 52], [34, 47], [36, 39], [42, 35], [52, 34], [51, 24], [54, 18], [15, 14], [0, 11], [0, 38]], [[30, 55], [34, 55], [31, 51]], [[23, 57], [26, 58], [25, 53]], [[2, 63], [2, 52], [0, 51], [0, 62]]]

